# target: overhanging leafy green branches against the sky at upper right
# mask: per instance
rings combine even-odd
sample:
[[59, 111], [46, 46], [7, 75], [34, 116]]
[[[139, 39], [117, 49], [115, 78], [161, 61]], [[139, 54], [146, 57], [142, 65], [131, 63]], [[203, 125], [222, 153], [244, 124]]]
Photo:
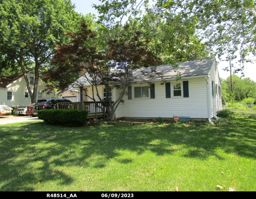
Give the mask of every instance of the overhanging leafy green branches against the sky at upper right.
[[[255, 0], [156, 0], [153, 5], [148, 0], [101, 2], [94, 5], [101, 14], [98, 22], [111, 27], [131, 16], [143, 22], [143, 18], [139, 17], [142, 11], [152, 20], [163, 19], [170, 28], [169, 34], [160, 37], [165, 40], [183, 37], [168, 49], [171, 54], [176, 52], [171, 58], [174, 61], [178, 52], [195, 44], [194, 33], [201, 35], [208, 50], [219, 58], [225, 55], [226, 59], [234, 59], [238, 52], [241, 65], [236, 71], [242, 70], [243, 64], [250, 61], [247, 55], [256, 53]], [[148, 28], [148, 35], [154, 33], [154, 29]]]

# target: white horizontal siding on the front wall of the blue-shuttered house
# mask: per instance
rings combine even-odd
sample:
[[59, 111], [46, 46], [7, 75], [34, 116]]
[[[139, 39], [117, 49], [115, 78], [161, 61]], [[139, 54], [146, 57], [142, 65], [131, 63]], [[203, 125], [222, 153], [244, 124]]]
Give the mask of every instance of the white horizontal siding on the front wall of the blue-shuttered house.
[[[133, 98], [128, 100], [128, 97], [124, 96], [124, 105], [122, 105], [123, 117], [157, 118], [160, 116], [172, 118], [174, 115], [178, 115], [190, 116], [191, 118], [208, 118], [207, 83], [205, 78], [186, 80], [189, 82], [188, 98], [166, 98], [165, 85], [160, 83], [155, 83], [155, 99], [145, 98], [141, 100]], [[173, 83], [177, 83], [176, 80], [171, 81], [171, 85]], [[173, 93], [172, 87], [171, 93]], [[118, 118], [117, 114], [116, 117]]]

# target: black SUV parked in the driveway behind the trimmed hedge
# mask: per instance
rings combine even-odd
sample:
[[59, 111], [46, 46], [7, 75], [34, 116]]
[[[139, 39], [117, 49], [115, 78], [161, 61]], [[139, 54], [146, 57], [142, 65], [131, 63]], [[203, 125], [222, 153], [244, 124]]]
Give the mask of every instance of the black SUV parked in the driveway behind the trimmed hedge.
[[34, 105], [33, 115], [37, 115], [38, 110], [52, 109], [56, 103], [68, 103], [68, 102], [72, 102], [72, 101], [65, 98], [40, 99]]

